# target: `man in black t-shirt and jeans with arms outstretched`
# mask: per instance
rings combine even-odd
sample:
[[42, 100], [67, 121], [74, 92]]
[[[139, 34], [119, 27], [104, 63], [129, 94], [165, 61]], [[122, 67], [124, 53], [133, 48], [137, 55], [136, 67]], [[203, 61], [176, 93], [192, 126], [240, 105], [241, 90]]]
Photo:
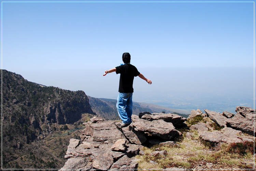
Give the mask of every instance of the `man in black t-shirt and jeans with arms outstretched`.
[[135, 66], [130, 64], [131, 56], [128, 52], [123, 53], [122, 60], [123, 65], [117, 66], [115, 68], [105, 71], [104, 75], [112, 72], [120, 74], [119, 80], [119, 95], [117, 98], [116, 108], [118, 115], [122, 120], [118, 124], [120, 127], [127, 126], [131, 123], [132, 115], [132, 93], [133, 93], [133, 79], [134, 77], [139, 76], [141, 79], [147, 81], [148, 84], [152, 84], [152, 81], [145, 78]]

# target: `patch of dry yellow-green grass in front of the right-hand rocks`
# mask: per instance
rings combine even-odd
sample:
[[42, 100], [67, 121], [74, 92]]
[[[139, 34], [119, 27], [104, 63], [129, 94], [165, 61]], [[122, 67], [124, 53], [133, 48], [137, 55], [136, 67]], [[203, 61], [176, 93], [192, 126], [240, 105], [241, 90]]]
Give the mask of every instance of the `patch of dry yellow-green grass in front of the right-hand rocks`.
[[[136, 156], [139, 160], [138, 169], [166, 169], [170, 167], [182, 167], [185, 169], [250, 169], [253, 170], [254, 155], [250, 151], [244, 154], [234, 153], [230, 148], [232, 145], [218, 144], [213, 148], [205, 146], [199, 141], [196, 130], [192, 130], [194, 136], [191, 139], [183, 134], [182, 141], [178, 142], [180, 147], [154, 145], [151, 148], [144, 147], [144, 155]], [[194, 141], [193, 141], [194, 140]], [[240, 144], [241, 145], [241, 144]], [[233, 144], [233, 147], [236, 145]], [[166, 155], [150, 155], [159, 148], [166, 150]], [[252, 149], [251, 149], [252, 150]], [[155, 161], [157, 164], [152, 164]]]

